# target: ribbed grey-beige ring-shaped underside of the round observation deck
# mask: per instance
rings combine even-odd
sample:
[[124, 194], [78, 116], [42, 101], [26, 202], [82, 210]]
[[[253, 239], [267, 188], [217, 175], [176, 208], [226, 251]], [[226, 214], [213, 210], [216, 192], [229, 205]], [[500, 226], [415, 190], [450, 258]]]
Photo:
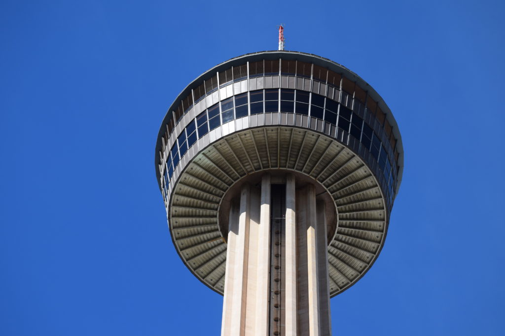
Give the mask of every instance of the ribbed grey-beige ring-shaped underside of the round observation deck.
[[337, 229], [328, 244], [330, 295], [360, 279], [376, 259], [387, 230], [382, 191], [368, 166], [334, 139], [295, 127], [233, 133], [198, 153], [170, 198], [172, 238], [184, 263], [223, 294], [226, 241], [218, 213], [226, 191], [242, 177], [287, 169], [310, 176], [334, 200]]

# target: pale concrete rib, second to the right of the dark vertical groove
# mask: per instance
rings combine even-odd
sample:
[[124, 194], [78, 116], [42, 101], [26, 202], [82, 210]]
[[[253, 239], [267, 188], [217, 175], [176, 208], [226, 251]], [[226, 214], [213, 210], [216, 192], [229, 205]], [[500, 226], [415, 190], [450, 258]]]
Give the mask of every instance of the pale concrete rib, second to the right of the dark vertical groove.
[[316, 189], [314, 185], [307, 186], [307, 280], [309, 303], [309, 335], [319, 336], [319, 282], [318, 282], [318, 255], [316, 238]]

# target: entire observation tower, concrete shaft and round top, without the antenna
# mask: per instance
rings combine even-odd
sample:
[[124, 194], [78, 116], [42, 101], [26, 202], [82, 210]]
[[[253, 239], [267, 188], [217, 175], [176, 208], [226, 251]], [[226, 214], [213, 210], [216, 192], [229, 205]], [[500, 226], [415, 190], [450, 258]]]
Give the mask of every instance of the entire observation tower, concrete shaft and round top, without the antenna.
[[330, 297], [384, 244], [403, 148], [358, 75], [313, 54], [263, 51], [182, 90], [155, 167], [177, 252], [224, 295], [222, 335], [330, 335]]

